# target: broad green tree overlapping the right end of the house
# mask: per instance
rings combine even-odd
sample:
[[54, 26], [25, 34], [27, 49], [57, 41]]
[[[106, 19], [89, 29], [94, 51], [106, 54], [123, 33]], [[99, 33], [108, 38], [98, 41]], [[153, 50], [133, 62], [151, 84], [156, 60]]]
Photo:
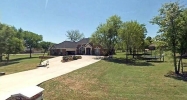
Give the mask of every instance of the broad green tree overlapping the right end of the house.
[[107, 49], [107, 54], [112, 55], [118, 40], [118, 30], [122, 24], [121, 18], [117, 15], [107, 19], [105, 24], [100, 24], [95, 33], [91, 36], [91, 42], [102, 45]]

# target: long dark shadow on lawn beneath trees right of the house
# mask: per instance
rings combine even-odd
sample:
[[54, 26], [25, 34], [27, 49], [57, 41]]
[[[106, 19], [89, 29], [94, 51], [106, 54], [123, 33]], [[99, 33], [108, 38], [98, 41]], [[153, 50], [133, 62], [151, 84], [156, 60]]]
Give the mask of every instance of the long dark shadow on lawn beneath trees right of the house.
[[118, 64], [132, 65], [132, 66], [154, 66], [150, 62], [139, 61], [139, 60], [136, 61], [134, 59], [126, 59], [126, 58], [113, 57], [113, 58], [106, 58], [103, 60], [108, 61], [108, 62], [118, 63]]

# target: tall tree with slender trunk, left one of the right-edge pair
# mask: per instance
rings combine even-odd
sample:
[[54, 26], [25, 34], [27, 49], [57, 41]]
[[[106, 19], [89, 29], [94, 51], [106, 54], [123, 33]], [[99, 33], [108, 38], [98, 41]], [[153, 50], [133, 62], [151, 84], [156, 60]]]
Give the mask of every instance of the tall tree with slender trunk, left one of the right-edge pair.
[[177, 66], [177, 46], [180, 32], [181, 32], [181, 12], [183, 11], [183, 7], [179, 5], [178, 2], [171, 2], [164, 4], [159, 10], [159, 15], [154, 17], [151, 21], [153, 24], [157, 24], [160, 26], [158, 32], [163, 34], [166, 38], [166, 42], [168, 43], [169, 48], [173, 53], [173, 62], [175, 73], [179, 74], [180, 67]]

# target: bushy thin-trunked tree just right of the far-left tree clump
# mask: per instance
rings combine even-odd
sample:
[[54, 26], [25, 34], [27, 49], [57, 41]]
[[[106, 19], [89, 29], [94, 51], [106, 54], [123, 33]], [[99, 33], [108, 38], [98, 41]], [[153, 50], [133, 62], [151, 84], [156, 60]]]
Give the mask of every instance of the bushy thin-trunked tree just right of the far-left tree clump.
[[25, 46], [30, 50], [30, 58], [32, 53], [32, 48], [39, 48], [39, 42], [42, 41], [42, 35], [35, 34], [33, 32], [24, 31], [24, 42]]

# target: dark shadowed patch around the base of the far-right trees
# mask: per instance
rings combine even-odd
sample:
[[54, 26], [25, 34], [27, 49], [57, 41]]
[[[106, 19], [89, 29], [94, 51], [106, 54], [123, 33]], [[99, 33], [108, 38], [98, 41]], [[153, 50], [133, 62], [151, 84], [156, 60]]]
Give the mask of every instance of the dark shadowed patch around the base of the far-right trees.
[[175, 72], [173, 71], [169, 71], [166, 75], [164, 75], [165, 77], [169, 77], [169, 78], [173, 78], [176, 80], [182, 80], [187, 82], [187, 72], [184, 72], [183, 74], [175, 74]]

